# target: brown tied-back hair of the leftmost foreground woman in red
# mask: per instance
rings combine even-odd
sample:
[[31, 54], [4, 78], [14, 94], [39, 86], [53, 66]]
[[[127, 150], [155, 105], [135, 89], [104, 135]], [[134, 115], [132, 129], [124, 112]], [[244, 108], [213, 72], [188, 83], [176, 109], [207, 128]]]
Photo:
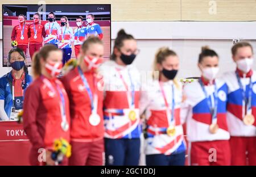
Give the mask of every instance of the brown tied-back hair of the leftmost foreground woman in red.
[[46, 58], [49, 55], [49, 52], [60, 50], [55, 45], [48, 44], [44, 45], [42, 49], [40, 49], [38, 52], [35, 52], [32, 57], [32, 74], [34, 78], [39, 77], [42, 74], [42, 66], [40, 63], [40, 60], [46, 61]]

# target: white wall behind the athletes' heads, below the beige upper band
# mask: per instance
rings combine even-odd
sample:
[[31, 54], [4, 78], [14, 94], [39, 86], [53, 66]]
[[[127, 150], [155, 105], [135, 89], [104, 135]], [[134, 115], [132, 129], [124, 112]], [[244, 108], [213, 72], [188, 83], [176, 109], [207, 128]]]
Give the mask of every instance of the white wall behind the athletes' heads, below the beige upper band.
[[[180, 57], [179, 78], [199, 76], [197, 60], [203, 45], [209, 45], [219, 54], [220, 74], [235, 68], [230, 54], [232, 39], [250, 40], [256, 50], [256, 23], [253, 22], [112, 22], [112, 47], [113, 39], [121, 28], [138, 39], [141, 52], [134, 64], [139, 70], [150, 71], [156, 50], [168, 46]], [[2, 28], [0, 49], [2, 58]], [[8, 71], [10, 68], [3, 68], [1, 61], [0, 76]]]

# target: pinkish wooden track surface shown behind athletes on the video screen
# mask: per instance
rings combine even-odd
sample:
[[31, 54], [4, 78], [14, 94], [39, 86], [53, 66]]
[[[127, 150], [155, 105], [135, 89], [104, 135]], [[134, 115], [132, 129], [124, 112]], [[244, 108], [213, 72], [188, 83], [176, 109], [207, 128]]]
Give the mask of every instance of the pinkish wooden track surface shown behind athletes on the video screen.
[[[110, 57], [110, 27], [101, 27], [103, 33], [104, 42], [104, 58], [108, 59]], [[8, 52], [11, 49], [11, 32], [13, 31], [13, 26], [4, 25], [3, 26], [3, 66], [7, 65]], [[75, 49], [72, 43], [72, 56], [75, 58]], [[31, 65], [31, 58], [29, 52], [27, 52], [27, 63]]]

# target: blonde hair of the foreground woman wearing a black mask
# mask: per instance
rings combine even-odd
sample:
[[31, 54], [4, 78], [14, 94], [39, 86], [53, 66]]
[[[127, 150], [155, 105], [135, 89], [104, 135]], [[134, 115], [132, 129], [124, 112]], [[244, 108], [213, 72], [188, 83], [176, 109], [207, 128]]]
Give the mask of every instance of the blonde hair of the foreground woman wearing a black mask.
[[[154, 64], [153, 64], [153, 73], [152, 73], [152, 78], [153, 79], [158, 79], [158, 77], [155, 76], [155, 71], [158, 71], [159, 73], [161, 71], [159, 71], [158, 69], [158, 64], [162, 65], [162, 62], [164, 60], [166, 60], [166, 57], [168, 56], [177, 56], [177, 54], [174, 52], [174, 50], [169, 49], [168, 47], [161, 47], [158, 49], [158, 51], [155, 54], [155, 60], [154, 60]], [[179, 83], [177, 82], [177, 79], [174, 79], [174, 85], [176, 86], [176, 88], [180, 88]]]

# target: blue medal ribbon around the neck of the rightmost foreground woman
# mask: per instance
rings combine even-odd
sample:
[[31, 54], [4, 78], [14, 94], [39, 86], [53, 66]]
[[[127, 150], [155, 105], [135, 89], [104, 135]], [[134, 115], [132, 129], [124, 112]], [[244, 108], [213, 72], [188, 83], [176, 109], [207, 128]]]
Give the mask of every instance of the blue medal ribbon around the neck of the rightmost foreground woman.
[[238, 73], [236, 72], [237, 75], [237, 81], [238, 81], [238, 85], [242, 91], [242, 96], [243, 96], [243, 101], [246, 104], [246, 113], [251, 113], [251, 90], [253, 89], [253, 82], [251, 82], [251, 77], [250, 77], [250, 83], [249, 83], [249, 92], [248, 92], [248, 98], [246, 98], [246, 89], [243, 90], [243, 86], [242, 86], [242, 82], [241, 82], [241, 78], [239, 77]]

